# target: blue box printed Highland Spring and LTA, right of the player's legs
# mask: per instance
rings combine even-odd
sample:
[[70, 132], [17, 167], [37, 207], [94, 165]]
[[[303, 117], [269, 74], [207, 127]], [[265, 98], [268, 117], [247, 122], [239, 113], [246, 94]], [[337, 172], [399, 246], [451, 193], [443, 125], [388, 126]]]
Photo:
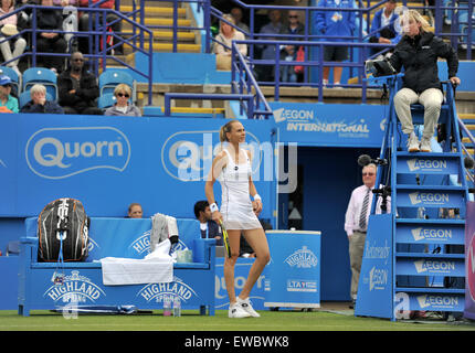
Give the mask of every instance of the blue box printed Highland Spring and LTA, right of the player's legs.
[[320, 307], [320, 232], [267, 231], [265, 307]]

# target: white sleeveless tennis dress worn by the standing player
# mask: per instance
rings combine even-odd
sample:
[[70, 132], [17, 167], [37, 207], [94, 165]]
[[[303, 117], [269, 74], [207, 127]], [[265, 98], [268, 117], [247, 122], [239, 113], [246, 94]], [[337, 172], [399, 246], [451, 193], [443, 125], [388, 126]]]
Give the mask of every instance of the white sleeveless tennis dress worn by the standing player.
[[251, 161], [245, 150], [240, 149], [240, 161], [236, 164], [231, 153], [228, 154], [228, 163], [223, 168], [219, 181], [221, 183], [221, 214], [226, 229], [256, 229], [261, 228], [249, 193], [249, 178], [252, 174]]

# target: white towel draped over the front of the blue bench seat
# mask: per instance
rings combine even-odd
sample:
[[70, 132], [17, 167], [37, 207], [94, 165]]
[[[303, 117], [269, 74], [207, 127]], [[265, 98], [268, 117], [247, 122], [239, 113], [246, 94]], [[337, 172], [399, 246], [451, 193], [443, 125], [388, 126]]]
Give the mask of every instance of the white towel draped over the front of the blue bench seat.
[[105, 257], [101, 259], [103, 284], [105, 286], [145, 285], [171, 282], [173, 280], [173, 259], [170, 240], [157, 245], [154, 253], [144, 259]]

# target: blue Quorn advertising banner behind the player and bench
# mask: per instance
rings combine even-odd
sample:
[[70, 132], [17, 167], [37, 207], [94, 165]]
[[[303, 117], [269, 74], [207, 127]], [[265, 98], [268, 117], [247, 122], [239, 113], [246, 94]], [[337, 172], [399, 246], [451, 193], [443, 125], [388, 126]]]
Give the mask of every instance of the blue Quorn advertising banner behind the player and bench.
[[[138, 202], [193, 218], [221, 148], [222, 119], [6, 115], [0, 129], [0, 216], [38, 215], [59, 197], [83, 202], [89, 216], [125, 216]], [[272, 218], [276, 162], [271, 121], [242, 121], [253, 179]], [[220, 201], [217, 182], [215, 197]]]

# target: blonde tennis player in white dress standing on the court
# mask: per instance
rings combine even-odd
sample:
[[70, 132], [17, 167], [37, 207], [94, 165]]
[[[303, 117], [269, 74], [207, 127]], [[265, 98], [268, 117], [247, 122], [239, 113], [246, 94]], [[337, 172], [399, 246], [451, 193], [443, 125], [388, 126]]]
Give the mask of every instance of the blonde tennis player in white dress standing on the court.
[[[249, 295], [261, 276], [271, 255], [264, 229], [257, 220], [262, 211], [261, 196], [252, 181], [251, 153], [240, 148], [245, 141], [245, 130], [239, 120], [230, 120], [220, 130], [221, 142], [229, 142], [214, 158], [204, 193], [210, 204], [212, 220], [222, 221], [230, 239], [231, 258], [224, 259], [224, 281], [230, 298], [230, 318], [258, 318]], [[214, 201], [213, 184], [219, 180], [222, 189], [221, 210]], [[254, 197], [251, 202], [250, 195]], [[236, 298], [234, 292], [234, 265], [239, 257], [241, 232], [256, 254], [247, 279]]]

